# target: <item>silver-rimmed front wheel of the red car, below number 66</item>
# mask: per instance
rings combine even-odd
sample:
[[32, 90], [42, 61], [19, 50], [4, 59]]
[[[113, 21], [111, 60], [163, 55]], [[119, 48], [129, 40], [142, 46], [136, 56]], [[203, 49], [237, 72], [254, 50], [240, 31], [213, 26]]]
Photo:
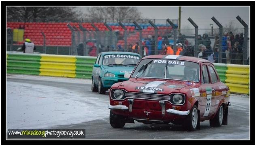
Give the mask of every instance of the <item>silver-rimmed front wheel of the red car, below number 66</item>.
[[183, 122], [182, 127], [188, 131], [195, 131], [198, 127], [198, 122], [200, 122], [198, 116], [197, 106], [194, 105], [186, 117], [186, 120]]

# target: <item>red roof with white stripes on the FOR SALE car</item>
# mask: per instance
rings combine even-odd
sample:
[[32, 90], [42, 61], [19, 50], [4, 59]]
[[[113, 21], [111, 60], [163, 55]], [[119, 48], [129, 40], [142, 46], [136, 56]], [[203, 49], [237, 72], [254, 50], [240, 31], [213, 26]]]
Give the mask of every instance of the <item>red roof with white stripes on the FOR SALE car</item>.
[[[192, 61], [192, 62], [196, 62], [196, 63], [203, 63], [203, 62], [207, 62], [207, 63], [211, 63], [210, 61], [206, 60], [206, 59], [202, 59], [202, 58], [197, 58], [197, 57], [190, 57], [190, 56], [181, 56], [181, 55], [149, 55], [149, 56], [145, 56], [142, 59], [176, 59], [176, 60], [183, 60], [183, 61]], [[211, 63], [213, 64], [213, 63]]]

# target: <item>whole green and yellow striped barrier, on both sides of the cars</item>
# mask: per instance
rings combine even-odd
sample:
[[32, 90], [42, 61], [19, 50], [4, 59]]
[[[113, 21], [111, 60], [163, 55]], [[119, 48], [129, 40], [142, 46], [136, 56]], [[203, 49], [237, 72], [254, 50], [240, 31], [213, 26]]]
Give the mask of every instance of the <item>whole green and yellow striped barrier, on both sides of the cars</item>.
[[[46, 54], [6, 54], [6, 73], [91, 78], [96, 57]], [[249, 94], [250, 66], [213, 63], [220, 80], [233, 93]]]

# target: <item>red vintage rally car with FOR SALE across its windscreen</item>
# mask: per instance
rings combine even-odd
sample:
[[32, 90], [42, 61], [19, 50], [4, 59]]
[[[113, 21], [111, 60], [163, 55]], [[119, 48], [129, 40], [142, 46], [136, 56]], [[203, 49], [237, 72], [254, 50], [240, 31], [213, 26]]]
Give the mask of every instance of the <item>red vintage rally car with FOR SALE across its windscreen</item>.
[[109, 92], [110, 124], [122, 128], [134, 120], [145, 124], [178, 124], [189, 131], [200, 121], [227, 125], [230, 90], [205, 59], [150, 55], [139, 61], [127, 81]]

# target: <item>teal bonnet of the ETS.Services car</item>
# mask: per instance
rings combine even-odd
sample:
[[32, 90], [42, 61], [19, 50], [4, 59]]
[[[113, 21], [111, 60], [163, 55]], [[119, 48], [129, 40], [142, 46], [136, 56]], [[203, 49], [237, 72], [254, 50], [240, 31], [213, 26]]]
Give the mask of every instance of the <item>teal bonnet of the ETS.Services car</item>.
[[[135, 66], [134, 66], [135, 67]], [[106, 72], [111, 72], [113, 74], [124, 74], [132, 73], [134, 67], [130, 66], [103, 66]]]

